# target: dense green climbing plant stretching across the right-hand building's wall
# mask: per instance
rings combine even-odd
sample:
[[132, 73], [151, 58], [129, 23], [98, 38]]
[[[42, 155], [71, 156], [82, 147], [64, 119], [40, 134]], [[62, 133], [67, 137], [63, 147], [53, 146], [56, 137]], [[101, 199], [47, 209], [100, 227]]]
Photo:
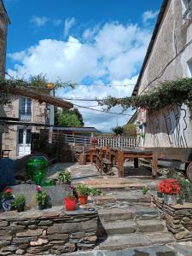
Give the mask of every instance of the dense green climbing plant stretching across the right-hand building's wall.
[[145, 108], [148, 111], [184, 103], [192, 110], [192, 79], [166, 81], [140, 96], [123, 98], [108, 96], [103, 101], [98, 100], [98, 103], [102, 106], [106, 105], [108, 109], [119, 105], [124, 110], [127, 108]]

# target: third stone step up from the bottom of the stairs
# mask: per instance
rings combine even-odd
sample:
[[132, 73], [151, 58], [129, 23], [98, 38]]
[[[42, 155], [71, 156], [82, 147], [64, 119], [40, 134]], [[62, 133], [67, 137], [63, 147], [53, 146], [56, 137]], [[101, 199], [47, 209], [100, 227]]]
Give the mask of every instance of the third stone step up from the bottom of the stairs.
[[127, 219], [158, 219], [159, 212], [150, 207], [137, 207], [130, 209], [111, 208], [98, 209], [99, 217], [105, 222]]

